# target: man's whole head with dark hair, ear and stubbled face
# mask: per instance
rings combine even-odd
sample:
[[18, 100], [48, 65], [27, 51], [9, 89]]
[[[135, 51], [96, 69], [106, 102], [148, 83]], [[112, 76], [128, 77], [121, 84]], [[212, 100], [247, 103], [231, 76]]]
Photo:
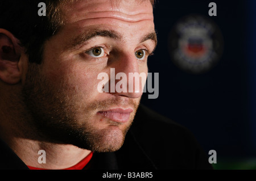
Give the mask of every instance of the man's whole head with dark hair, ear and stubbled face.
[[38, 1], [13, 2], [16, 11], [0, 22], [0, 79], [20, 87], [19, 103], [33, 118], [27, 125], [49, 141], [119, 149], [142, 91], [101, 93], [97, 77], [110, 68], [147, 73], [156, 45], [152, 3], [46, 1], [47, 16], [40, 17]]

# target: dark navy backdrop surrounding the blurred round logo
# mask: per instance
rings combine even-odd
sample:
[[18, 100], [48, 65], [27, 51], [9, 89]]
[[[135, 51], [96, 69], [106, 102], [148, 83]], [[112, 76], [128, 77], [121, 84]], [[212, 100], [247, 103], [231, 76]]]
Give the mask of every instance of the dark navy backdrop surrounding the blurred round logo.
[[[209, 16], [210, 2], [217, 16]], [[223, 53], [210, 70], [193, 74], [174, 64], [170, 33], [190, 14], [205, 16], [222, 34]], [[158, 47], [148, 71], [159, 73], [159, 97], [142, 103], [187, 127], [217, 151], [215, 169], [256, 169], [256, 1], [157, 1]]]

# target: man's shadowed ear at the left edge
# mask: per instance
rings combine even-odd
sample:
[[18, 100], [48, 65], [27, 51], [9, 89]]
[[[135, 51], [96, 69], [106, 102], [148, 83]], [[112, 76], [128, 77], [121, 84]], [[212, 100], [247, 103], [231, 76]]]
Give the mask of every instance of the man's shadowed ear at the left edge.
[[0, 79], [11, 85], [22, 78], [22, 66], [19, 65], [22, 49], [18, 42], [12, 33], [0, 28]]

